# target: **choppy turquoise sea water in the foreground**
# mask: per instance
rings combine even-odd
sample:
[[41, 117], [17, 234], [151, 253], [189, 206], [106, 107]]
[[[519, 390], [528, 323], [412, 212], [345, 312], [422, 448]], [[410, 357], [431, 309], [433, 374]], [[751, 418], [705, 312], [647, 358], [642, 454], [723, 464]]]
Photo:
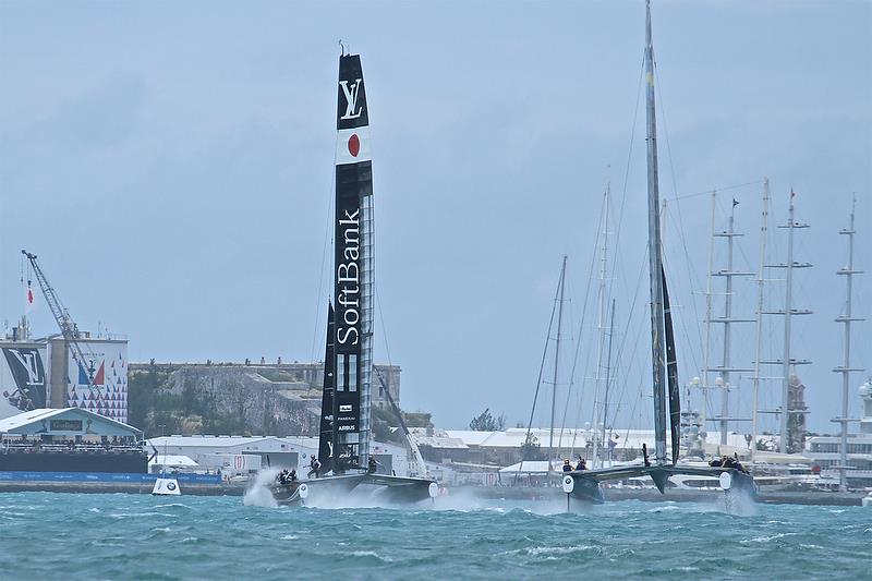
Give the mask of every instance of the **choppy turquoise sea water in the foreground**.
[[872, 510], [619, 501], [275, 508], [0, 494], [2, 579], [872, 579]]

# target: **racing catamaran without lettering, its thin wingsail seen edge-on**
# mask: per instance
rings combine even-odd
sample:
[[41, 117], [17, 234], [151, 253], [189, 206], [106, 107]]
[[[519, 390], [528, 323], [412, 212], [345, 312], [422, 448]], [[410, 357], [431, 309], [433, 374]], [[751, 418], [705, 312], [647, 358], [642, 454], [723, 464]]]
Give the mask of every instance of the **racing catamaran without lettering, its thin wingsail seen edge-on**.
[[[678, 464], [681, 401], [678, 366], [669, 308], [669, 293], [663, 268], [661, 240], [659, 191], [657, 178], [657, 124], [654, 109], [654, 46], [651, 38], [651, 2], [645, 2], [645, 97], [647, 144], [647, 209], [649, 209], [649, 275], [651, 286], [651, 349], [654, 389], [654, 458], [644, 455], [643, 464], [630, 464], [600, 470], [581, 470], [564, 475], [564, 489], [571, 496], [592, 503], [603, 503], [600, 483], [647, 475], [661, 493], [674, 474], [719, 477], [728, 499], [738, 494], [756, 496], [753, 479], [731, 461], [727, 467], [691, 467]], [[667, 389], [668, 387], [668, 389]], [[668, 414], [667, 414], [668, 403]], [[666, 422], [669, 421], [670, 456], [666, 451]]]

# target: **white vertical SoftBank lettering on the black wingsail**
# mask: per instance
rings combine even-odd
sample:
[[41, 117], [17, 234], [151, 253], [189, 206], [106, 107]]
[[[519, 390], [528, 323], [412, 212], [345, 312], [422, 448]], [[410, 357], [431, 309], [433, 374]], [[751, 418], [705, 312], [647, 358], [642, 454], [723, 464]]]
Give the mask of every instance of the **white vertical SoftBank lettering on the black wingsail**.
[[337, 243], [342, 244], [342, 261], [336, 267], [337, 285], [337, 317], [336, 340], [339, 344], [355, 346], [360, 341], [361, 320], [361, 285], [360, 267], [361, 257], [361, 229], [360, 208], [353, 211], [344, 210], [344, 216], [339, 219]]

